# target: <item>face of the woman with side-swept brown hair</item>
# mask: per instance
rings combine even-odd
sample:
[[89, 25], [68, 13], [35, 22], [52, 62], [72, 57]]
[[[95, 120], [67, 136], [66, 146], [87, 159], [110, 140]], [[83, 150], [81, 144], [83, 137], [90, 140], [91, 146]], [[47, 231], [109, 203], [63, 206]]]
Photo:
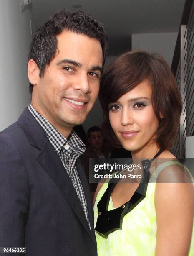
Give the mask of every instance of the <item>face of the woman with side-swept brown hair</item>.
[[109, 120], [126, 150], [139, 151], [151, 145], [158, 130], [158, 119], [151, 103], [147, 80], [109, 104]]

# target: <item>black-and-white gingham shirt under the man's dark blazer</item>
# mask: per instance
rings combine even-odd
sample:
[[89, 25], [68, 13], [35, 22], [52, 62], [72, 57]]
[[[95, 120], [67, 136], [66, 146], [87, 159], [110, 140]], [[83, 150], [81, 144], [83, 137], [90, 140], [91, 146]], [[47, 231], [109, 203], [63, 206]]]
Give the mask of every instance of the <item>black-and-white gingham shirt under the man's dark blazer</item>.
[[28, 109], [41, 125], [50, 143], [53, 145], [55, 151], [59, 155], [60, 160], [62, 161], [63, 166], [73, 183], [73, 187], [76, 189], [78, 198], [81, 202], [81, 206], [83, 207], [83, 211], [86, 215], [86, 219], [91, 230], [90, 221], [88, 218], [87, 202], [75, 166], [76, 159], [78, 156], [84, 153], [86, 150], [86, 145], [81, 141], [81, 139], [73, 130], [68, 139], [66, 139], [63, 135], [60, 134], [59, 131], [53, 127], [53, 125], [48, 122], [48, 120], [40, 115], [40, 113], [38, 113], [31, 104], [28, 106]]

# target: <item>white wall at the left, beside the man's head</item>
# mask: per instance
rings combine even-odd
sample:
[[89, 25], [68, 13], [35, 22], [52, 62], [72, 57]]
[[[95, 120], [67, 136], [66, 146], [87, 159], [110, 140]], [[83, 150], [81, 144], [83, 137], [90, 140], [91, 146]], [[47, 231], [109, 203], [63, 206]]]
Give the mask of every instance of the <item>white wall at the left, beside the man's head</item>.
[[27, 61], [31, 7], [0, 0], [0, 131], [15, 122], [30, 102]]

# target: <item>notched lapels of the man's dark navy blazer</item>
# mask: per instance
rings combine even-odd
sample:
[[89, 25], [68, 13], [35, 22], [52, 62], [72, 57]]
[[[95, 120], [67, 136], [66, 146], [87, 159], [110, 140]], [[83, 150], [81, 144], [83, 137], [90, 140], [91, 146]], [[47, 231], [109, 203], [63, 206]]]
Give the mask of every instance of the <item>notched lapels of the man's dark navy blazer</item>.
[[58, 189], [60, 189], [61, 193], [68, 201], [72, 210], [75, 212], [86, 232], [91, 237], [94, 245], [96, 246], [96, 239], [93, 232], [93, 210], [91, 196], [80, 160], [76, 161], [76, 168], [85, 193], [92, 232], [90, 231], [86, 216], [83, 212], [83, 208], [78, 199], [76, 190], [73, 187], [71, 179], [69, 178], [67, 172], [65, 172], [64, 166], [58, 154], [48, 140], [42, 127], [39, 125], [37, 120], [35, 120], [28, 108], [26, 108], [22, 115], [20, 115], [18, 123], [28, 137], [30, 144], [40, 149], [39, 154], [36, 156], [37, 161], [45, 169], [48, 175], [50, 175]]

